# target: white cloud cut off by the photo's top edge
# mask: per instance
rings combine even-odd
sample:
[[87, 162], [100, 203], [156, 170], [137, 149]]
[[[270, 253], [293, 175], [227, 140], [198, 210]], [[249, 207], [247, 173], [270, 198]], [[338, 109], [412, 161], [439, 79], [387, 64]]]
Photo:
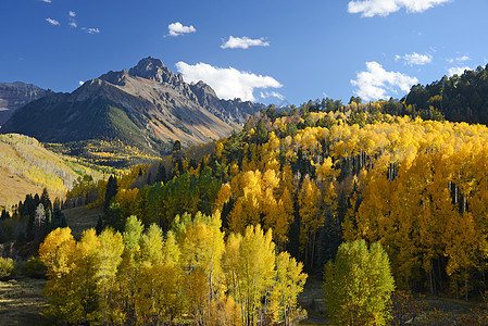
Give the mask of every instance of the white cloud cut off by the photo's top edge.
[[349, 1], [349, 13], [361, 13], [362, 17], [375, 15], [387, 16], [404, 8], [406, 12], [424, 12], [434, 5], [442, 4], [451, 0], [356, 0]]

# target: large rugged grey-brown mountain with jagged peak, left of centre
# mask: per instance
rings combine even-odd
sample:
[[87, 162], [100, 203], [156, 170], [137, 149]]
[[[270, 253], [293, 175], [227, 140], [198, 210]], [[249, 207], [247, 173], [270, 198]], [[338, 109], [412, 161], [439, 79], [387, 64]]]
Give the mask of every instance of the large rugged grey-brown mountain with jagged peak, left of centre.
[[[39, 89], [40, 95], [40, 89]], [[264, 104], [221, 100], [203, 82], [187, 84], [152, 57], [109, 72], [72, 93], [49, 93], [17, 109], [1, 133], [43, 142], [122, 141], [152, 153], [167, 145], [202, 143], [228, 136]]]

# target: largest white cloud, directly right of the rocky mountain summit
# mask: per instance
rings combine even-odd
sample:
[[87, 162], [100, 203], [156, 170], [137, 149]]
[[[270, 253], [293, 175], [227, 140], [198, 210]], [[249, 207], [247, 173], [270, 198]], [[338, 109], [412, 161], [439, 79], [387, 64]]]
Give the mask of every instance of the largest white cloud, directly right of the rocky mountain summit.
[[185, 82], [203, 80], [222, 99], [240, 98], [243, 101], [254, 101], [255, 88], [279, 88], [283, 86], [273, 77], [240, 72], [234, 67], [221, 68], [207, 63], [190, 65], [180, 61], [176, 63], [176, 68], [183, 74]]

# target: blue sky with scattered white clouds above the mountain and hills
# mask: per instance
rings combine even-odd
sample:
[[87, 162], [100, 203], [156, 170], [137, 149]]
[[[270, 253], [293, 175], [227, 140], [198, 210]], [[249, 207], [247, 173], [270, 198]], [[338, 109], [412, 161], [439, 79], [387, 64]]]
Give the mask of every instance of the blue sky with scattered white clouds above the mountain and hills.
[[401, 98], [487, 64], [487, 12], [486, 0], [2, 0], [0, 82], [73, 91], [152, 55], [223, 98]]

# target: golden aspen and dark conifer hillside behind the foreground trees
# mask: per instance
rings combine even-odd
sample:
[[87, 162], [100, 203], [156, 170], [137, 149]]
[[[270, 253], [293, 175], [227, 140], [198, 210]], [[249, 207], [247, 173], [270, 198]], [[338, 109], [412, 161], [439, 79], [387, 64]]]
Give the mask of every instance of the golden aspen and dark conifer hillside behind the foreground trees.
[[[387, 104], [258, 114], [229, 138], [137, 167], [104, 222], [121, 229], [135, 214], [167, 230], [177, 214], [221, 211], [227, 231], [273, 229], [277, 248], [309, 272], [343, 240], [363, 238], [385, 246], [399, 288], [476, 294], [485, 289], [488, 128], [380, 113]], [[371, 105], [379, 109], [358, 111]]]

